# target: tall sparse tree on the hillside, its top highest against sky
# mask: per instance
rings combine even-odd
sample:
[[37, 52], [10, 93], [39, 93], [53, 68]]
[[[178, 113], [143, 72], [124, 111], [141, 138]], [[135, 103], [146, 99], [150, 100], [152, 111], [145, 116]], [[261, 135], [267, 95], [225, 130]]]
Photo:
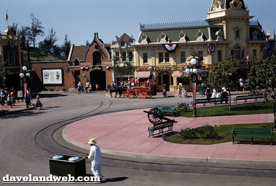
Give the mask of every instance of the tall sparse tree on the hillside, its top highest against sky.
[[35, 47], [36, 38], [39, 36], [44, 36], [45, 33], [42, 29], [44, 27], [41, 24], [41, 21], [39, 21], [34, 15], [31, 13], [31, 27], [30, 27], [30, 33], [28, 34], [28, 39], [33, 42], [33, 47]]

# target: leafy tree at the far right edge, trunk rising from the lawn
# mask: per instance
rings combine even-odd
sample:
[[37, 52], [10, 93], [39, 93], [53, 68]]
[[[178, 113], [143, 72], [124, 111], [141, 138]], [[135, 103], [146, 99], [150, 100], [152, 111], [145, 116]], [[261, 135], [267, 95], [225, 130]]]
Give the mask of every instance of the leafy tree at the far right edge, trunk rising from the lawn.
[[[273, 100], [274, 132], [276, 131], [276, 56], [264, 59], [255, 57], [255, 66], [250, 68], [248, 86], [253, 87], [251, 94], [264, 95], [265, 99]], [[254, 88], [255, 87], [255, 88]]]

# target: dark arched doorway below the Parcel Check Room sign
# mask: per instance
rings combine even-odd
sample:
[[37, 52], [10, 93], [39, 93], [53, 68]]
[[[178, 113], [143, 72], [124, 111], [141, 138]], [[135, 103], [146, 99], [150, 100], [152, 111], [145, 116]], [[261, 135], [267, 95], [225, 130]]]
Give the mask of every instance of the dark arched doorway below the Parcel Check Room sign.
[[99, 91], [105, 90], [105, 82], [105, 71], [93, 70], [90, 72], [90, 83], [92, 85], [92, 91], [96, 91], [96, 83], [99, 85]]

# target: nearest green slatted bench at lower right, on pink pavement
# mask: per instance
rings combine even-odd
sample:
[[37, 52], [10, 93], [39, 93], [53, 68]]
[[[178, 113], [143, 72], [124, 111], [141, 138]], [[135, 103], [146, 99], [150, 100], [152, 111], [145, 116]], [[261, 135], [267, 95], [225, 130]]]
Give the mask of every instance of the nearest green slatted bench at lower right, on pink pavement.
[[273, 128], [233, 127], [231, 137], [232, 137], [232, 144], [234, 144], [235, 137], [245, 137], [245, 138], [251, 138], [251, 145], [253, 145], [253, 138], [271, 138], [271, 145], [272, 145]]

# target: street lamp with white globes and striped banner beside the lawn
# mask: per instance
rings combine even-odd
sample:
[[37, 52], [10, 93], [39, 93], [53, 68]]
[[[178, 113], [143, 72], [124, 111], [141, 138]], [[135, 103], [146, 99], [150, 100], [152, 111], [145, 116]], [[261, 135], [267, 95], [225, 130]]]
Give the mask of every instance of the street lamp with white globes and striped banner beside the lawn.
[[197, 109], [196, 109], [196, 85], [197, 85], [197, 76], [196, 73], [200, 73], [202, 71], [201, 68], [197, 68], [197, 60], [196, 59], [191, 59], [190, 61], [191, 63], [191, 67], [187, 67], [185, 69], [186, 74], [189, 74], [190, 72], [192, 73], [191, 75], [191, 80], [192, 80], [192, 89], [193, 89], [193, 98], [194, 98], [194, 103], [192, 103], [192, 107], [193, 107], [193, 118], [197, 117]]

